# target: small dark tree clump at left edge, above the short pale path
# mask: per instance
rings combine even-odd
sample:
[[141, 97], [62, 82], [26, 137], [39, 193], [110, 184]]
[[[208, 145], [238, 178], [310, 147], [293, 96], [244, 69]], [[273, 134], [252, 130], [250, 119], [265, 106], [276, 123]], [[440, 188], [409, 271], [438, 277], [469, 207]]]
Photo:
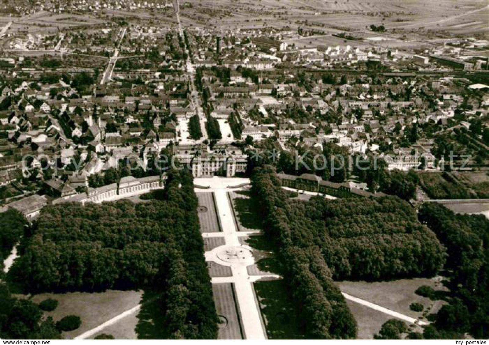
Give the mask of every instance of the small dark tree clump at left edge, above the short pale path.
[[13, 246], [19, 242], [27, 224], [22, 213], [9, 209], [0, 213], [0, 262], [10, 254]]

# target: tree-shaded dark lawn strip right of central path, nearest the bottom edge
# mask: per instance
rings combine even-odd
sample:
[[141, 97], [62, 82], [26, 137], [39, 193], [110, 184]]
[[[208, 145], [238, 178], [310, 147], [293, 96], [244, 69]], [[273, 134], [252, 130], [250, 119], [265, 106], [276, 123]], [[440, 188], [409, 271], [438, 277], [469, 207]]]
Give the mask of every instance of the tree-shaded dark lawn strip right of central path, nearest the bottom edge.
[[283, 280], [258, 281], [253, 284], [268, 339], [304, 339], [300, 316], [295, 314]]

